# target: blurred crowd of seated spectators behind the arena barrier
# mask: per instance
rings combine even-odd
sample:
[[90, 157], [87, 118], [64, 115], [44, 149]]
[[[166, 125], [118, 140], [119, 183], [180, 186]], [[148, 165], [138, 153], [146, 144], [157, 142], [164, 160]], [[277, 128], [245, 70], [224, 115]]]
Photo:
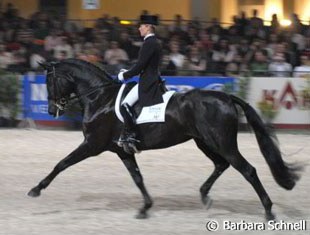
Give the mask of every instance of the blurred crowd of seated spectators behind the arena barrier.
[[[94, 27], [36, 12], [29, 18], [8, 4], [0, 12], [0, 69], [17, 73], [42, 72], [37, 62], [79, 58], [104, 66], [111, 74], [130, 67], [142, 39], [138, 20], [109, 16]], [[148, 14], [147, 10], [141, 14]], [[137, 19], [139, 16], [137, 16]], [[273, 15], [265, 26], [257, 10], [233, 16], [232, 25], [198, 19], [160, 21], [156, 34], [162, 43], [162, 75], [305, 76], [310, 73], [310, 26], [292, 14], [291, 25]]]

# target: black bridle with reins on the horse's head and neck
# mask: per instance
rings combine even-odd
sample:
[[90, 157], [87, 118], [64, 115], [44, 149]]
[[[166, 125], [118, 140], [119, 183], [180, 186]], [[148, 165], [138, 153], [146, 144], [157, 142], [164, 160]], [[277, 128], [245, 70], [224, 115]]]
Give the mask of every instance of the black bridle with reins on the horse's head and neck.
[[[83, 94], [80, 94], [80, 95], [74, 95], [74, 96], [70, 96], [70, 95], [67, 95], [65, 97], [63, 97], [61, 94], [60, 94], [60, 87], [59, 87], [59, 82], [58, 80], [60, 79], [59, 77], [56, 76], [56, 69], [55, 69], [55, 64], [52, 65], [52, 70], [49, 71], [46, 75], [49, 75], [49, 74], [52, 74], [52, 84], [53, 84], [53, 100], [54, 101], [54, 105], [56, 106], [57, 110], [56, 110], [56, 118], [59, 117], [59, 112], [60, 111], [65, 111], [67, 109], [67, 105], [68, 103], [71, 101], [71, 100], [74, 100], [74, 99], [79, 99], [80, 97], [83, 97], [83, 96], [88, 96], [88, 95], [91, 95], [92, 93], [94, 93], [95, 91], [97, 91], [99, 88], [102, 88], [102, 87], [106, 87], [107, 85], [106, 84], [103, 84], [103, 85], [100, 85], [96, 88], [92, 88], [92, 89], [89, 89], [88, 91], [86, 91], [85, 93]], [[111, 81], [116, 81], [110, 74], [108, 74], [107, 72], [105, 72], [105, 75], [111, 80]], [[68, 78], [64, 78], [64, 79], [67, 79], [69, 82], [70, 80]], [[73, 79], [72, 79], [73, 80]], [[72, 82], [72, 81], [71, 81]], [[119, 82], [117, 83], [111, 83], [113, 85], [115, 84], [119, 84]], [[49, 99], [49, 98], [48, 98]]]

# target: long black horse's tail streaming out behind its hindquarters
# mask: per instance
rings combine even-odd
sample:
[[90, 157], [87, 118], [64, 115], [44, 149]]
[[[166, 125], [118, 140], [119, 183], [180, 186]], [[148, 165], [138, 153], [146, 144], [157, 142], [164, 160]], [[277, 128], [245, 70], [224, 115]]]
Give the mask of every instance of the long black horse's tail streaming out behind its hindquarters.
[[281, 152], [274, 142], [273, 135], [269, 128], [263, 123], [253, 107], [242, 99], [231, 95], [235, 104], [238, 104], [244, 111], [244, 114], [252, 126], [259, 148], [263, 154], [276, 182], [283, 188], [291, 190], [299, 179], [298, 171], [301, 167], [287, 164], [283, 161]]

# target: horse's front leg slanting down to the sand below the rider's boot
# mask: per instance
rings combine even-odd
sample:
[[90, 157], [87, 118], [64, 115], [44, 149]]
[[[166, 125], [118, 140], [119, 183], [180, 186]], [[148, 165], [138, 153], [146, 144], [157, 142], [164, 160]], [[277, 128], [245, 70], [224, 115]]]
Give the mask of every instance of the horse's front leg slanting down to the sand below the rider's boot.
[[139, 170], [138, 164], [136, 162], [135, 156], [131, 155], [131, 154], [127, 154], [125, 152], [118, 153], [118, 156], [121, 158], [124, 165], [128, 169], [131, 177], [133, 178], [134, 182], [136, 183], [136, 185], [140, 189], [140, 191], [143, 195], [143, 198], [144, 198], [144, 206], [139, 210], [139, 213], [136, 216], [136, 218], [137, 219], [145, 219], [148, 217], [147, 211], [152, 207], [153, 201], [152, 201], [150, 195], [148, 194], [148, 192], [144, 186], [143, 178], [142, 178], [142, 175], [140, 173], [140, 170]]

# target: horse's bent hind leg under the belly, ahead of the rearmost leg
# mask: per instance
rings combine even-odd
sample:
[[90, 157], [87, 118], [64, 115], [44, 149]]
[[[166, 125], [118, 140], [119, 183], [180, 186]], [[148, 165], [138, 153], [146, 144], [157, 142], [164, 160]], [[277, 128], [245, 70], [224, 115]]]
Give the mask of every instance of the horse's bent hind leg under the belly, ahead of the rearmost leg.
[[204, 184], [200, 187], [200, 195], [203, 204], [207, 205], [210, 203], [210, 199], [208, 197], [208, 193], [215, 183], [215, 181], [222, 175], [222, 173], [229, 167], [229, 163], [221, 157], [219, 154], [212, 152], [208, 149], [207, 145], [199, 139], [195, 139], [195, 142], [198, 148], [207, 155], [214, 163], [215, 169], [209, 178], [204, 182]]

